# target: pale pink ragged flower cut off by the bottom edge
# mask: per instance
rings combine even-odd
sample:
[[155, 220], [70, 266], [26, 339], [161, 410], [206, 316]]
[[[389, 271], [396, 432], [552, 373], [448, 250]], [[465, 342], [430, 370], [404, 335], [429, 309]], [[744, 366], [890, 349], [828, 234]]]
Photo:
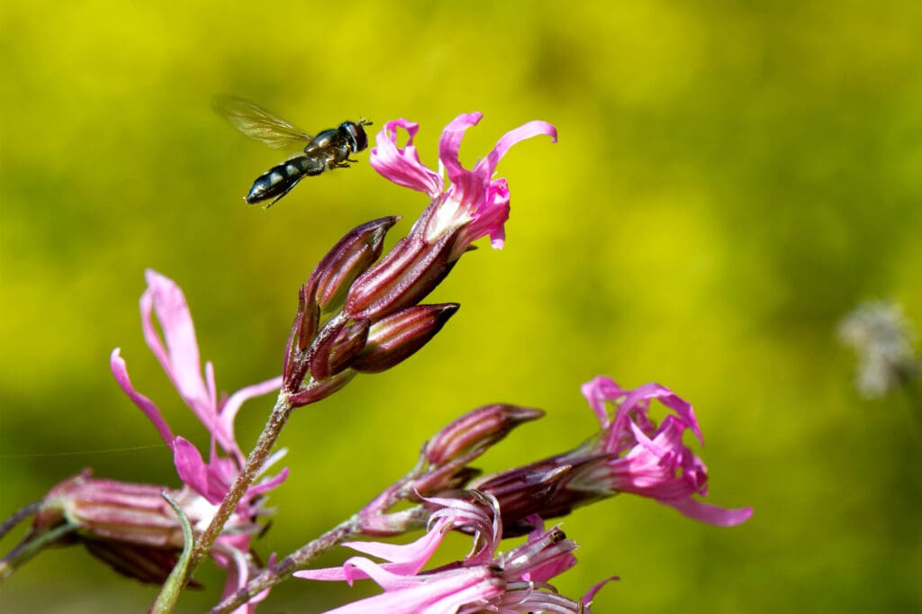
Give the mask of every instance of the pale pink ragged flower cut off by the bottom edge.
[[[444, 505], [432, 515], [429, 532], [399, 546], [378, 542], [344, 544], [389, 562], [352, 557], [341, 568], [309, 570], [294, 575], [325, 581], [372, 578], [384, 594], [336, 608], [327, 614], [387, 611], [390, 614], [473, 614], [480, 611], [512, 613], [546, 611], [587, 612], [593, 587], [583, 601], [557, 595], [547, 584], [576, 563], [576, 544], [558, 527], [536, 529], [525, 544], [499, 552], [502, 531], [497, 503], [487, 497], [475, 502], [430, 499]], [[536, 524], [539, 524], [536, 520]], [[474, 549], [463, 561], [421, 572], [443, 537], [453, 528], [474, 534]]]

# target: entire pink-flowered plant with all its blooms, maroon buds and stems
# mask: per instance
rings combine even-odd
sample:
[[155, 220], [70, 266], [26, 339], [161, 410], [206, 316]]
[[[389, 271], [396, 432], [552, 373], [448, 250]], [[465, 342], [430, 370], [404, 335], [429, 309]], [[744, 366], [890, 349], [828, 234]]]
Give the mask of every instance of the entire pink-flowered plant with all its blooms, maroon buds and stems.
[[[372, 148], [372, 167], [430, 203], [386, 254], [384, 238], [396, 217], [361, 224], [325, 255], [299, 290], [276, 378], [219, 397], [213, 366], [201, 364], [183, 291], [148, 270], [148, 289], [140, 301], [144, 337], [209, 433], [207, 455], [174, 434], [160, 408], [137, 391], [116, 348], [110, 357], [115, 380], [169, 446], [182, 486], [93, 478], [89, 470], [66, 479], [34, 509], [25, 508], [3, 526], [0, 537], [20, 516], [34, 515], [30, 534], [0, 562], [0, 579], [45, 546], [79, 542], [125, 575], [163, 583], [152, 608], [158, 612], [171, 610], [183, 586], [195, 584], [195, 566], [210, 556], [228, 572], [213, 612], [252, 613], [272, 586], [293, 575], [349, 584], [370, 578], [384, 589], [329, 614], [574, 614], [588, 612], [597, 590], [612, 578], [580, 599], [558, 594], [550, 581], [576, 563], [576, 544], [558, 526], [546, 530], [545, 520], [620, 492], [654, 499], [713, 525], [748, 520], [750, 508], [726, 509], [700, 500], [707, 494], [706, 469], [682, 442], [691, 433], [703, 443], [691, 404], [659, 384], [630, 390], [597, 377], [583, 386], [583, 394], [599, 429], [577, 448], [480, 477], [470, 464], [544, 412], [509, 404], [479, 407], [438, 431], [406, 476], [344, 522], [282, 559], [269, 557], [266, 565], [252, 556], [252, 541], [263, 528], [259, 520], [270, 513], [266, 494], [288, 478], [287, 469], [274, 476], [267, 471], [284, 453], [272, 449], [292, 410], [334, 394], [358, 373], [396, 366], [435, 337], [458, 304], [422, 301], [473, 242], [489, 236], [499, 249], [505, 240], [509, 186], [493, 176], [500, 159], [524, 139], [557, 138], [551, 124], [529, 122], [502, 136], [468, 170], [458, 154], [467, 129], [480, 118], [478, 112], [462, 114], [444, 129], [438, 171], [420, 161], [413, 145], [417, 124], [405, 119], [384, 124]], [[277, 390], [265, 430], [244, 454], [234, 432], [237, 412], [245, 401]], [[658, 423], [651, 415], [653, 401], [667, 410]], [[406, 545], [351, 540], [423, 527], [428, 527], [425, 535]], [[427, 569], [450, 531], [472, 536], [471, 552], [461, 561]], [[516, 536], [527, 537], [520, 545], [503, 545], [503, 539]], [[319, 554], [339, 544], [383, 562], [355, 556], [342, 567], [311, 569]]]

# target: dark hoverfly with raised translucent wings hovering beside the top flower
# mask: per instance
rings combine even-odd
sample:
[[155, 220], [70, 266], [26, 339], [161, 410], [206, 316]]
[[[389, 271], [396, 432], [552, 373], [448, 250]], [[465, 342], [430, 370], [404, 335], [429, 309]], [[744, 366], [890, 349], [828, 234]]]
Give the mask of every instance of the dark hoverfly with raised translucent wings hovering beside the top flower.
[[304, 177], [349, 168], [349, 162], [358, 161], [350, 159], [349, 155], [368, 147], [368, 136], [362, 126], [372, 123], [364, 119], [343, 122], [336, 128], [311, 136], [258, 104], [236, 96], [215, 97], [214, 108], [244, 135], [262, 141], [270, 148], [307, 143], [304, 153], [292, 156], [256, 178], [249, 194], [244, 197], [250, 205], [274, 197], [266, 205], [271, 207]]

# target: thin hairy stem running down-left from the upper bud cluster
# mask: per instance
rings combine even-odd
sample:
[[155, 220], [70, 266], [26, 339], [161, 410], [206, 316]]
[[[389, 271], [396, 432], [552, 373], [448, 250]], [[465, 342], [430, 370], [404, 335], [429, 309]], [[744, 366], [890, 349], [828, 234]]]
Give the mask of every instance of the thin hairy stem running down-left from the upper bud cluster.
[[215, 543], [215, 539], [220, 535], [221, 529], [223, 529], [225, 523], [227, 523], [228, 518], [230, 518], [234, 510], [237, 509], [237, 503], [240, 502], [246, 490], [253, 484], [254, 479], [266, 462], [266, 458], [268, 458], [269, 453], [272, 452], [272, 447], [278, 440], [278, 435], [282, 427], [285, 426], [285, 422], [288, 421], [291, 415], [291, 409], [293, 409], [293, 407], [290, 404], [288, 395], [284, 391], [280, 392], [278, 394], [276, 406], [272, 408], [272, 413], [269, 415], [263, 432], [259, 435], [256, 446], [246, 459], [246, 465], [243, 466], [240, 475], [234, 480], [231, 491], [228, 492], [228, 496], [221, 502], [218, 512], [211, 520], [211, 524], [208, 525], [208, 528], [195, 543], [195, 549], [192, 551], [192, 559], [189, 561], [189, 566], [183, 574], [183, 585], [189, 582], [192, 573], [195, 572], [195, 568], [198, 567], [202, 559], [207, 556], [212, 545]]

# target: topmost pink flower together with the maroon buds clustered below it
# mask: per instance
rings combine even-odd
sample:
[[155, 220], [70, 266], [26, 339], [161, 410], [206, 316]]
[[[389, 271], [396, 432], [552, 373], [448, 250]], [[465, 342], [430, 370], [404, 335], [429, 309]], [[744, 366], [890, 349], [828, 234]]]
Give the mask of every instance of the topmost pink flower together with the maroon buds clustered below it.
[[[301, 287], [283, 365], [283, 390], [293, 407], [336, 392], [359, 372], [382, 372], [422, 348], [458, 309], [457, 303], [420, 304], [471, 243], [490, 235], [504, 241], [509, 189], [493, 172], [505, 153], [532, 136], [557, 131], [529, 122], [500, 138], [487, 157], [465, 169], [458, 151], [480, 113], [459, 115], [439, 144], [442, 175], [424, 166], [412, 145], [419, 126], [404, 119], [384, 124], [372, 148], [372, 166], [392, 182], [431, 199], [408, 235], [382, 254], [385, 233], [397, 218], [380, 218], [350, 230]], [[398, 130], [408, 133], [398, 145]]]

